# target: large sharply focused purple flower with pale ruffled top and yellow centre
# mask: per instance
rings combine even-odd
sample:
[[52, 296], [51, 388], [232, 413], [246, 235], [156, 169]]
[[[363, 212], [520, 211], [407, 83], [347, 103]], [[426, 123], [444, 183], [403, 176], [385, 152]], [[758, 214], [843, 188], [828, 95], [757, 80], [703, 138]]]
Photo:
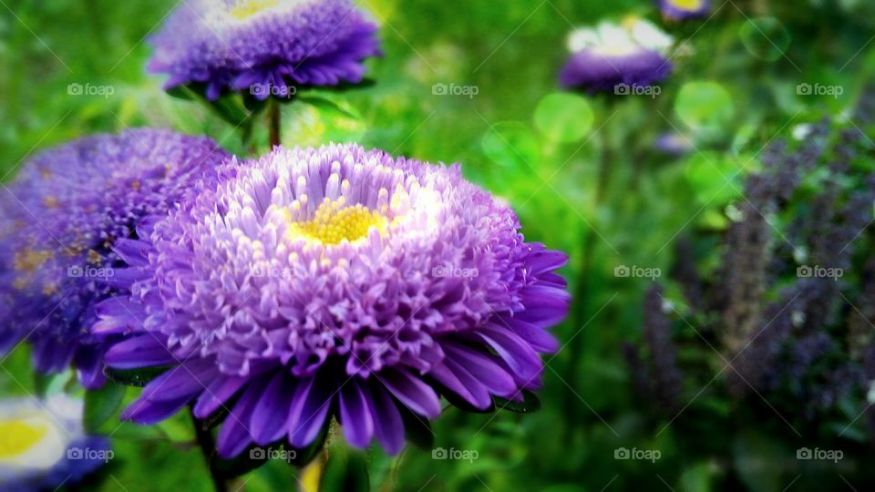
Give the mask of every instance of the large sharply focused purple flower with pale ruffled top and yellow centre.
[[130, 295], [103, 302], [94, 331], [129, 337], [106, 362], [172, 366], [126, 418], [229, 411], [218, 450], [236, 456], [307, 446], [335, 415], [352, 445], [396, 454], [439, 395], [484, 411], [540, 387], [567, 257], [525, 242], [458, 166], [331, 145], [234, 169], [116, 245]]

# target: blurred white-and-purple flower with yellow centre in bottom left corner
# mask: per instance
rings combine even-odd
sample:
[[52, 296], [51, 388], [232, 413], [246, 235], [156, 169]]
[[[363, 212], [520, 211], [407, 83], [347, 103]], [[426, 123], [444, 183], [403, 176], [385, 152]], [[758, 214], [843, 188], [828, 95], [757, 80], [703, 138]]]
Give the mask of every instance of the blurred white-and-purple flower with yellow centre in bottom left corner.
[[82, 407], [66, 395], [0, 401], [0, 489], [73, 486], [111, 459], [106, 437], [84, 433]]

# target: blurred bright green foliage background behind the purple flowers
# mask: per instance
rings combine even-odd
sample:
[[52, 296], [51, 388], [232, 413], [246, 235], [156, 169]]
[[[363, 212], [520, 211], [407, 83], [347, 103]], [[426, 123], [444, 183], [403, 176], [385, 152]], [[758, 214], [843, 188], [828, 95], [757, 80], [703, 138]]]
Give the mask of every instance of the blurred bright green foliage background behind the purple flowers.
[[[234, 152], [248, 150], [227, 123], [168, 97], [161, 80], [144, 73], [150, 53], [144, 38], [175, 4], [0, 1], [4, 180], [35, 151], [135, 126], [203, 133]], [[368, 467], [375, 489], [867, 488], [862, 458], [870, 445], [839, 440], [846, 455], [861, 459], [803, 466], [795, 450], [818, 442], [773, 432], [783, 425], [774, 414], [734, 418], [738, 408], [715, 389], [723, 384], [719, 375], [699, 394], [703, 384], [688, 382], [698, 384], [689, 388], [695, 401], [676, 415], [642, 401], [622, 345], [641, 339], [644, 292], [652, 281], [618, 277], [615, 269], [669, 272], [679, 237], [726, 228], [726, 205], [739, 199], [743, 176], [759, 169], [770, 140], [823, 115], [847, 114], [875, 64], [871, 2], [715, 0], [706, 21], [664, 26], [679, 44], [674, 75], [656, 97], [553, 94], [572, 26], [628, 14], [661, 23], [646, 0], [361, 5], [382, 26], [386, 55], [370, 62], [376, 86], [326, 93], [334, 108], [286, 106], [283, 143], [356, 141], [462, 162], [469, 179], [510, 200], [528, 239], [570, 252], [563, 273], [576, 293], [569, 321], [556, 329], [564, 345], [547, 360], [540, 412], [448, 409], [434, 426], [436, 446], [476, 450], [478, 459], [436, 460], [414, 446], [397, 460], [373, 452]], [[112, 87], [113, 94], [71, 95], [70, 84]], [[474, 86], [478, 94], [438, 96], [435, 84]], [[842, 87], [843, 94], [806, 96], [799, 84]], [[683, 134], [695, 149], [680, 158], [657, 151], [654, 141], [664, 132]], [[265, 142], [266, 135], [256, 133], [254, 141]], [[711, 256], [705, 261], [719, 261]], [[719, 366], [703, 365], [707, 382]], [[3, 395], [53, 383], [31, 374], [25, 348], [2, 366]], [[102, 395], [102, 411], [118, 412], [133, 393]], [[112, 434], [116, 458], [86, 487], [211, 489], [187, 415], [155, 429], [110, 419], [100, 430]], [[710, 446], [691, 446], [693, 440]], [[615, 459], [618, 448], [659, 450], [661, 458]], [[241, 481], [247, 490], [282, 490], [292, 487], [293, 474], [272, 462]]]

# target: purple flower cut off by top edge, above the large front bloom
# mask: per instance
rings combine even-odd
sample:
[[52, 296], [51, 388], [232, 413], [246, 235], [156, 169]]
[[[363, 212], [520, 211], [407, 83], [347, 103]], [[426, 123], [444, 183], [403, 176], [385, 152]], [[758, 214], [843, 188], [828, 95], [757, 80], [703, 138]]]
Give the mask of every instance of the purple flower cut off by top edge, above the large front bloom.
[[166, 88], [206, 85], [288, 97], [295, 86], [358, 83], [379, 54], [376, 25], [350, 0], [194, 0], [180, 5], [152, 39], [153, 73]]

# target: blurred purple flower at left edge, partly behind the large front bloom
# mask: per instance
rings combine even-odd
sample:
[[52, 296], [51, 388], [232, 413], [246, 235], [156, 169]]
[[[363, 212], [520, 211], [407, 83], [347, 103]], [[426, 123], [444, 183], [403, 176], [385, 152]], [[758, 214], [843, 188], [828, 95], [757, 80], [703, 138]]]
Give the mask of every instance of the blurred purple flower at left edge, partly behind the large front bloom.
[[82, 384], [103, 384], [103, 342], [87, 327], [123, 282], [113, 242], [136, 237], [143, 217], [166, 212], [228, 157], [209, 138], [143, 128], [28, 162], [0, 191], [0, 351], [26, 338], [38, 371], [72, 362]]

